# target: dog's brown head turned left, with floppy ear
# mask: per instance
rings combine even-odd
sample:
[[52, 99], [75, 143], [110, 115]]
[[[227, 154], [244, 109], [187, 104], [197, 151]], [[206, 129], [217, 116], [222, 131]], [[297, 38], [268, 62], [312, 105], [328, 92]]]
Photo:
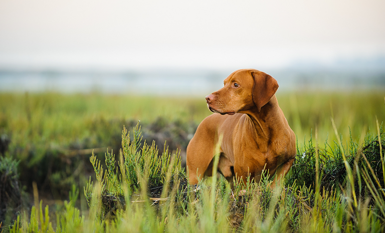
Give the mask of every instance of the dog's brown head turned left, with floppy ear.
[[209, 109], [222, 115], [255, 108], [261, 111], [278, 89], [277, 80], [254, 69], [237, 70], [225, 79], [224, 84], [222, 89], [206, 96]]

